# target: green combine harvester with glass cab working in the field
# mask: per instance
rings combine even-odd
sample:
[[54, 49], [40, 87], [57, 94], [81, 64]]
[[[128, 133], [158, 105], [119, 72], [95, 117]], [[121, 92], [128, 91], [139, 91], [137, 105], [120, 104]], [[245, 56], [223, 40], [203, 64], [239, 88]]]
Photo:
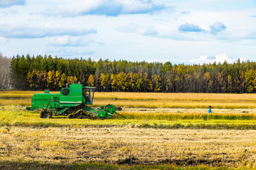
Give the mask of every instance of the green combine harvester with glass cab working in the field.
[[85, 87], [81, 84], [67, 84], [59, 94], [35, 93], [32, 97], [31, 107], [27, 110], [43, 109], [40, 118], [55, 116], [68, 116], [69, 119], [110, 119], [115, 117], [117, 108], [108, 104], [99, 109], [88, 107], [92, 104], [96, 87]]

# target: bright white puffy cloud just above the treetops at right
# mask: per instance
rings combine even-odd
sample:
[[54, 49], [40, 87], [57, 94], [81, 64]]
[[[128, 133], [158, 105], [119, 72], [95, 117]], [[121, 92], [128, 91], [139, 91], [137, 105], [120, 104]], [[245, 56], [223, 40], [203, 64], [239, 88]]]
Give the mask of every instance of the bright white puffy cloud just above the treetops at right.
[[203, 63], [213, 63], [214, 61], [216, 61], [217, 63], [223, 63], [224, 61], [227, 61], [228, 63], [232, 63], [234, 60], [229, 58], [227, 56], [227, 54], [223, 53], [220, 55], [216, 55], [215, 58], [205, 55], [205, 56], [201, 56], [198, 59], [190, 59], [189, 60], [192, 63], [199, 63], [199, 64], [203, 64]]

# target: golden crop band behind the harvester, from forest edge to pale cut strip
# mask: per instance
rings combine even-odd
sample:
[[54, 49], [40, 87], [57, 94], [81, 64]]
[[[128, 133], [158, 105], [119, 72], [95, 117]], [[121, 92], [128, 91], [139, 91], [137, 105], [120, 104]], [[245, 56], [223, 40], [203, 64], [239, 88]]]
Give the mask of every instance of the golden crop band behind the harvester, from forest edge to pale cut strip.
[[[0, 92], [0, 105], [29, 106], [34, 93], [44, 92]], [[95, 92], [93, 106], [111, 103], [142, 108], [208, 108], [211, 105], [216, 109], [256, 109], [255, 102], [256, 94]]]

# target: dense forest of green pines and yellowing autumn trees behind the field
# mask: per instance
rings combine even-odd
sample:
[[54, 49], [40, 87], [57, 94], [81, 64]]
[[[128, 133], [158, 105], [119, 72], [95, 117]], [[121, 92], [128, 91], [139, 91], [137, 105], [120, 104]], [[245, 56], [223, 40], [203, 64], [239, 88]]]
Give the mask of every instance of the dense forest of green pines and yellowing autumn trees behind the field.
[[0, 80], [9, 78], [9, 85], [18, 90], [59, 91], [66, 83], [81, 82], [100, 92], [256, 93], [256, 62], [249, 60], [177, 65], [27, 54], [13, 56], [4, 65], [9, 66], [9, 74], [3, 76], [7, 70], [1, 67]]

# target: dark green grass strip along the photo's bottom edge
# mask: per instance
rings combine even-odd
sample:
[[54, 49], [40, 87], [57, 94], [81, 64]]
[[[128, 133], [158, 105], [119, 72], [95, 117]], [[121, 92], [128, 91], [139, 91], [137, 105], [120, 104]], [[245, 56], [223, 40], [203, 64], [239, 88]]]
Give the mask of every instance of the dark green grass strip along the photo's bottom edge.
[[0, 161], [0, 170], [253, 170], [253, 168], [240, 167], [213, 167], [213, 166], [177, 166], [175, 164], [164, 165], [112, 165], [102, 163], [74, 163], [52, 164], [34, 162]]

